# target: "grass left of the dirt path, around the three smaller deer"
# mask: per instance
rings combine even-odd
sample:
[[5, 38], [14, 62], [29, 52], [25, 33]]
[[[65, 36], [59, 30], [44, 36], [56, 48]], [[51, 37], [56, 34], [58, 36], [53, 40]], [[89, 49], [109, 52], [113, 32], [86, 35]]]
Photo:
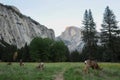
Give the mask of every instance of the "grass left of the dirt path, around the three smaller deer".
[[38, 63], [0, 64], [0, 80], [53, 80], [54, 74], [62, 69], [60, 64], [47, 63], [43, 71], [36, 68]]

